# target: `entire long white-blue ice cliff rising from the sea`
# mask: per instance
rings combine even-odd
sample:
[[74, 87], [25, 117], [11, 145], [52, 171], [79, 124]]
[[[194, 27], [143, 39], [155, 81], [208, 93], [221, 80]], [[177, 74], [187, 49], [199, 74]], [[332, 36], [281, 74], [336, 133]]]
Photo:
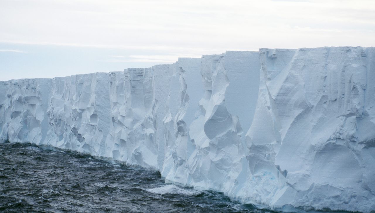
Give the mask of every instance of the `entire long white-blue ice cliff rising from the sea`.
[[276, 210], [375, 210], [375, 48], [227, 51], [0, 82], [0, 139]]

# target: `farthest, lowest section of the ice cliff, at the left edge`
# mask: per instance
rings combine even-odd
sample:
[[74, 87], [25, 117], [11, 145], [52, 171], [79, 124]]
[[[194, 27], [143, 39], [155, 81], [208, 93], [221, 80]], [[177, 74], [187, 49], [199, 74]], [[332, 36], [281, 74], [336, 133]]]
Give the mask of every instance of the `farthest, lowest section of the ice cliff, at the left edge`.
[[45, 141], [51, 79], [0, 82], [0, 139], [12, 142]]

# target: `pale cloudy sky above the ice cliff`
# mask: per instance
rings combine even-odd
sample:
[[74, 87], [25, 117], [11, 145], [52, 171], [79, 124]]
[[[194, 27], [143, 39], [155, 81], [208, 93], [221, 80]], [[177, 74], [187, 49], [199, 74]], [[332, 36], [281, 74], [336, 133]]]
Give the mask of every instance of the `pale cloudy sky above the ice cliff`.
[[0, 80], [374, 43], [374, 0], [0, 0]]

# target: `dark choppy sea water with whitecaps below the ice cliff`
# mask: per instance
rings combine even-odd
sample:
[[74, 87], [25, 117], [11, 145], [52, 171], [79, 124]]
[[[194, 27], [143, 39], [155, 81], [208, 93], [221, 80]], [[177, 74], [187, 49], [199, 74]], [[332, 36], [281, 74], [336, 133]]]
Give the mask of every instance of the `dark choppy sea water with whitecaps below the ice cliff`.
[[273, 212], [165, 184], [159, 172], [9, 142], [0, 142], [0, 211]]

